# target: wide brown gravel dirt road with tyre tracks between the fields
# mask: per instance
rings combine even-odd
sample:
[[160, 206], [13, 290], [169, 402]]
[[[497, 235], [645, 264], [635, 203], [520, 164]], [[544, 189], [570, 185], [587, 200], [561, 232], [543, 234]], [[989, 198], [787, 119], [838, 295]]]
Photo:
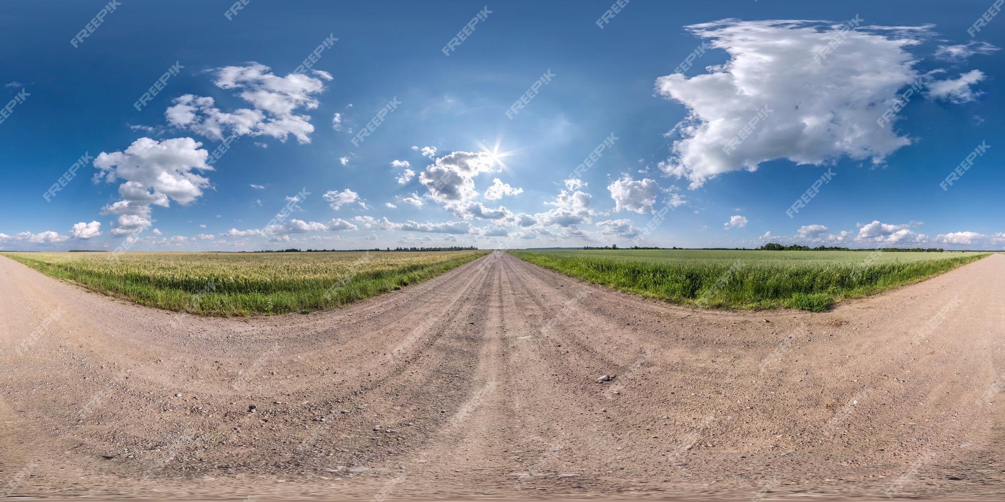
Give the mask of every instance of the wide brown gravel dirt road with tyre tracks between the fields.
[[250, 319], [0, 258], [0, 496], [1000, 495], [1003, 335], [1002, 255], [812, 314], [493, 253]]

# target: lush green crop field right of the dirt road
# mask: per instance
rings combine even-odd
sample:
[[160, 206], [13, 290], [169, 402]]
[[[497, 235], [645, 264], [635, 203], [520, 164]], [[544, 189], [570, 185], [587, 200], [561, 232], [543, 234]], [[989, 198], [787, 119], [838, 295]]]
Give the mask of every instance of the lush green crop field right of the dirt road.
[[523, 250], [515, 256], [594, 284], [707, 308], [833, 303], [924, 280], [988, 253]]

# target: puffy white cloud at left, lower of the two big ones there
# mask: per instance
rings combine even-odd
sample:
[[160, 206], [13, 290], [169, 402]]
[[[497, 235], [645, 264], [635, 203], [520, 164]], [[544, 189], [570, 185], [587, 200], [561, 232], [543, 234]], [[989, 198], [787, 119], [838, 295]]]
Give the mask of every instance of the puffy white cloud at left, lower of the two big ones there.
[[141, 138], [124, 152], [102, 152], [94, 159], [95, 182], [125, 180], [119, 186], [121, 201], [105, 206], [103, 214], [118, 215], [113, 235], [125, 235], [151, 225], [151, 205], [168, 206], [173, 199], [187, 205], [202, 196], [209, 180], [198, 173], [212, 171], [208, 153], [191, 138], [159, 142]]

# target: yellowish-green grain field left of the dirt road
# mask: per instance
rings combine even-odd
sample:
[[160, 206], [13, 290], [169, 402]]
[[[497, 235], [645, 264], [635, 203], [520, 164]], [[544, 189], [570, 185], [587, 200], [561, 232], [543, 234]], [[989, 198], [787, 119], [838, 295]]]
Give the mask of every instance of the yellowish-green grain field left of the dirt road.
[[2, 253], [144, 305], [207, 315], [308, 313], [400, 289], [486, 251]]

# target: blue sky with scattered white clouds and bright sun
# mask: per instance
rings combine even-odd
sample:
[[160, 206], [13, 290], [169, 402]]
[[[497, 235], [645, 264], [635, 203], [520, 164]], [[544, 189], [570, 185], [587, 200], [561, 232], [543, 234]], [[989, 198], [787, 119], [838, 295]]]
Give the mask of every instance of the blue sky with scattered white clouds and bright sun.
[[8, 3], [0, 248], [1003, 249], [996, 13]]

